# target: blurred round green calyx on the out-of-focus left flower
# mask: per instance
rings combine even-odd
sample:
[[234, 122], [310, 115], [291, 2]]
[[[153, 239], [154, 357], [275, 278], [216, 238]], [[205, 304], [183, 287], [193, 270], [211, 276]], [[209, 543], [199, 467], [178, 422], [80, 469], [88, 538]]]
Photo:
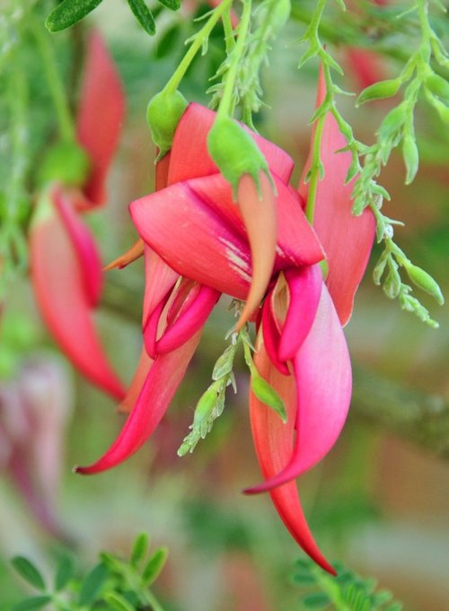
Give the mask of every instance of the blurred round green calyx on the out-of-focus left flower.
[[81, 187], [86, 182], [91, 163], [84, 149], [73, 142], [59, 142], [48, 149], [38, 170], [38, 185], [57, 180], [66, 187]]

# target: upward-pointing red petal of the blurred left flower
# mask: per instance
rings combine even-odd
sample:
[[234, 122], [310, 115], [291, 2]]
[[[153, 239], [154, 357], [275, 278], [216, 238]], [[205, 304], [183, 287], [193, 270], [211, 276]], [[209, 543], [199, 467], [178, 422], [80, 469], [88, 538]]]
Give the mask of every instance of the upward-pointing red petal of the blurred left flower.
[[92, 31], [84, 66], [76, 132], [92, 170], [84, 187], [92, 204], [105, 199], [104, 181], [119, 141], [125, 96], [119, 74], [98, 31]]

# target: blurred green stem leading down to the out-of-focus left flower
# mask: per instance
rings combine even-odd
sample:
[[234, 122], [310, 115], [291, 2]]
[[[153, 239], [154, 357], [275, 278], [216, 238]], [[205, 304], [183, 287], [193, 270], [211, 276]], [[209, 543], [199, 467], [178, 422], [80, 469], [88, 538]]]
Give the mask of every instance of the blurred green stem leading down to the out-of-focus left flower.
[[67, 142], [75, 141], [75, 127], [66, 99], [66, 92], [57, 71], [56, 57], [48, 33], [35, 18], [30, 19], [31, 30], [42, 59], [42, 66], [57, 114], [59, 133]]

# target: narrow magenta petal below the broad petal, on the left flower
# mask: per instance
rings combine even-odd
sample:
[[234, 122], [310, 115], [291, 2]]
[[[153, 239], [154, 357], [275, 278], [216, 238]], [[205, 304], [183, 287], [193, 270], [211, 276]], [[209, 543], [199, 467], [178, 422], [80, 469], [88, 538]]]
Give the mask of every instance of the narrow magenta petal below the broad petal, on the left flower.
[[189, 308], [170, 325], [155, 346], [156, 354], [172, 352], [203, 327], [221, 293], [204, 284]]

